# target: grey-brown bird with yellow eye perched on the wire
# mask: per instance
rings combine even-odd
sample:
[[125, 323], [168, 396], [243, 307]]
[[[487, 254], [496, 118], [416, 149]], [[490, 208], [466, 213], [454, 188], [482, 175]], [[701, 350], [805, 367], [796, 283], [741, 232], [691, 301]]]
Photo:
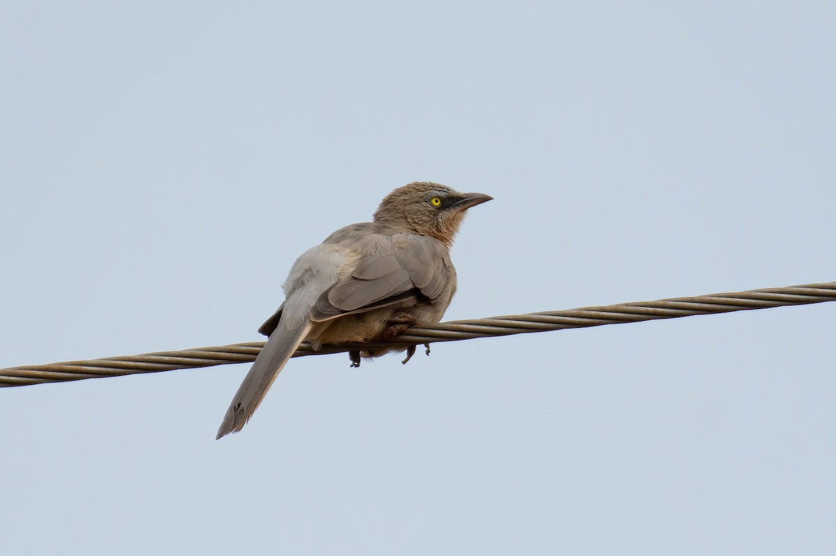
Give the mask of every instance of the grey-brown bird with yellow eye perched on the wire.
[[[285, 300], [258, 331], [268, 340], [227, 409], [216, 439], [239, 432], [303, 341], [324, 344], [390, 340], [410, 326], [428, 326], [456, 293], [450, 259], [466, 210], [492, 200], [429, 181], [386, 195], [371, 222], [345, 226], [298, 257], [284, 282]], [[415, 346], [350, 351], [376, 357]]]

